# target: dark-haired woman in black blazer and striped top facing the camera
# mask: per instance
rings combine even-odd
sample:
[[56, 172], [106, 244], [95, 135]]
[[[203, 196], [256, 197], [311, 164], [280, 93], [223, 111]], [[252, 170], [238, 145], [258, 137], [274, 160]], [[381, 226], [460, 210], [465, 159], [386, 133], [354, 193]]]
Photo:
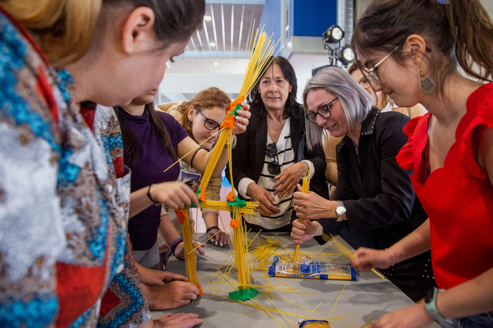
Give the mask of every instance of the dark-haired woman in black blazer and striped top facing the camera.
[[260, 203], [260, 215], [244, 215], [247, 230], [289, 231], [292, 194], [310, 167], [311, 190], [328, 196], [325, 159], [320, 143], [306, 143], [293, 67], [283, 57], [267, 63], [248, 96], [252, 114], [233, 150], [233, 180], [241, 199]]

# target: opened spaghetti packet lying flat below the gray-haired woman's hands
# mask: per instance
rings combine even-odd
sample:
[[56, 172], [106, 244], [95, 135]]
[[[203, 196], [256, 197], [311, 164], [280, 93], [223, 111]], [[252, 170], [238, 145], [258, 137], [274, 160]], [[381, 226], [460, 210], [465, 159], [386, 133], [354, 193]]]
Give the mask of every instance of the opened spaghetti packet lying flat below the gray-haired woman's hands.
[[296, 262], [290, 254], [274, 256], [268, 273], [274, 277], [360, 280], [359, 273], [350, 264], [332, 261], [315, 261], [306, 255], [300, 255]]

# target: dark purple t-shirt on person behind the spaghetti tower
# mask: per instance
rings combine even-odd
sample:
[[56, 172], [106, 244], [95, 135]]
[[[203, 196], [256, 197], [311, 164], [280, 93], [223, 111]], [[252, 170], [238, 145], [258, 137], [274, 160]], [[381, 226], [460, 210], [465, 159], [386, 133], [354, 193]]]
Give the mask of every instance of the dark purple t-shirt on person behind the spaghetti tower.
[[[172, 168], [163, 172], [171, 164], [177, 161], [168, 151], [164, 149], [159, 141], [158, 135], [149, 120], [149, 112], [144, 110], [142, 116], [134, 116], [123, 109], [122, 121], [132, 130], [137, 140], [137, 164], [132, 165], [128, 155], [125, 153], [123, 161], [131, 168], [130, 191], [148, 187], [152, 183], [165, 181], [176, 181], [180, 174], [180, 166], [173, 165]], [[171, 145], [175, 154], [178, 154], [178, 143], [188, 137], [187, 132], [178, 121], [168, 113], [157, 112], [161, 117]], [[124, 146], [124, 145], [123, 145]], [[177, 156], [177, 155], [176, 155]], [[157, 231], [161, 223], [161, 206], [150, 206], [128, 220], [128, 233], [132, 242], [133, 250], [150, 249], [157, 240]]]

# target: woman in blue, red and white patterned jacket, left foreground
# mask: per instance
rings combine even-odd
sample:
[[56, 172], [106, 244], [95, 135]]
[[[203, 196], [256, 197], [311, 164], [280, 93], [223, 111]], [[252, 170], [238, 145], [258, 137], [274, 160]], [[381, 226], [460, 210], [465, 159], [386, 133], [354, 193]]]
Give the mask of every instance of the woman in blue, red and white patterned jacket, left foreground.
[[[203, 0], [0, 1], [2, 327], [201, 323], [151, 318], [127, 238], [139, 204], [120, 126], [96, 103], [128, 104], [158, 84], [204, 10]], [[191, 201], [177, 191], [181, 206]]]

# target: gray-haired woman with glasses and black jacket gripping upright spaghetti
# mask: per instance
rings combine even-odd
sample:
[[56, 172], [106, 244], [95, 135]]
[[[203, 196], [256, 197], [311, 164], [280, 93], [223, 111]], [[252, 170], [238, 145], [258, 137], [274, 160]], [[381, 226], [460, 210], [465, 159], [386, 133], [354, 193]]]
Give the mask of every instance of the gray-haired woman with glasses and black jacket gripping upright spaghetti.
[[[327, 132], [345, 137], [337, 146], [336, 200], [313, 192], [294, 193], [296, 216], [304, 219], [293, 222], [295, 244], [338, 233], [354, 248], [387, 249], [427, 219], [409, 172], [395, 160], [407, 142], [402, 129], [409, 118], [382, 113], [373, 102], [351, 75], [337, 67], [321, 70], [307, 82], [303, 107], [309, 121], [308, 146]], [[435, 285], [430, 252], [401, 263], [381, 271], [417, 301]]]

